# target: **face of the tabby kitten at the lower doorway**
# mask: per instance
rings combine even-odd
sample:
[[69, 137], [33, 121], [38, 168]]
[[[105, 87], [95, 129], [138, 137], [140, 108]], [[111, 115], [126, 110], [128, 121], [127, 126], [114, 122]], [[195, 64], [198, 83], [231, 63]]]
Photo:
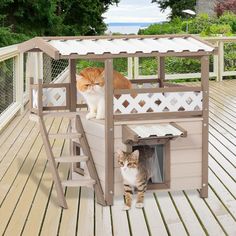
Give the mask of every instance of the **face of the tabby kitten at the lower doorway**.
[[117, 158], [122, 170], [125, 171], [126, 169], [136, 169], [139, 163], [139, 151], [135, 150], [132, 153], [126, 153], [118, 150]]

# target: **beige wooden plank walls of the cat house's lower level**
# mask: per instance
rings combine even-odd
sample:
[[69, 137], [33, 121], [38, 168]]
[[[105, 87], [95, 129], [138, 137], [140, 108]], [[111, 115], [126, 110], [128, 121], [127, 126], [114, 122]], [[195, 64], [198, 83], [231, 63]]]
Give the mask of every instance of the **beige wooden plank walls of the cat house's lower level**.
[[[105, 188], [105, 139], [104, 122], [86, 120], [81, 114], [82, 123], [93, 154], [94, 162], [103, 188]], [[200, 118], [172, 120], [187, 130], [185, 138], [171, 141], [171, 190], [198, 189], [201, 187], [202, 160], [202, 121]], [[152, 121], [153, 123], [154, 121]], [[158, 123], [165, 123], [160, 120]], [[169, 121], [168, 121], [169, 122]], [[148, 122], [149, 123], [149, 122]], [[121, 124], [115, 125], [115, 151], [126, 150], [122, 143]], [[115, 195], [123, 194], [122, 176], [115, 159]]]

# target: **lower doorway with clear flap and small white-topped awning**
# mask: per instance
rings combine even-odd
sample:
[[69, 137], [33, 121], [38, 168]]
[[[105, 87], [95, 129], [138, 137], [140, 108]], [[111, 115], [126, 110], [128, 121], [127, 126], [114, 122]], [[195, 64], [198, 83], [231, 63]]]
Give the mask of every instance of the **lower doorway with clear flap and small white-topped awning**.
[[127, 151], [139, 150], [139, 161], [147, 168], [148, 189], [170, 188], [170, 142], [186, 136], [187, 132], [175, 123], [122, 127]]

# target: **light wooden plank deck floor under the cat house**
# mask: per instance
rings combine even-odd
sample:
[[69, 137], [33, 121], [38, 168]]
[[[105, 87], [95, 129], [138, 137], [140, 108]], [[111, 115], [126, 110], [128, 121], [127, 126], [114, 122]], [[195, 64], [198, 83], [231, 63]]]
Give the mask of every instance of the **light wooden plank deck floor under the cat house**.
[[[122, 211], [95, 203], [86, 188], [65, 190], [69, 209], [56, 202], [42, 140], [28, 113], [0, 135], [0, 235], [236, 235], [236, 81], [211, 82], [209, 198], [199, 191], [147, 193], [145, 208]], [[67, 122], [47, 120], [52, 132]], [[53, 142], [66, 153], [68, 143]], [[68, 167], [60, 165], [67, 178]]]

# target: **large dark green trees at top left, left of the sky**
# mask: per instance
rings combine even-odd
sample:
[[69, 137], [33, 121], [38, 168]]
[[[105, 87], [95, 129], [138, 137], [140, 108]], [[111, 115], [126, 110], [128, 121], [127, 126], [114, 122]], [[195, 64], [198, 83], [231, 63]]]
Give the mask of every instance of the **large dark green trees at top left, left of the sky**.
[[0, 45], [34, 36], [101, 34], [106, 29], [102, 14], [109, 5], [118, 2], [119, 0], [1, 0], [0, 32], [3, 34], [0, 34]]

